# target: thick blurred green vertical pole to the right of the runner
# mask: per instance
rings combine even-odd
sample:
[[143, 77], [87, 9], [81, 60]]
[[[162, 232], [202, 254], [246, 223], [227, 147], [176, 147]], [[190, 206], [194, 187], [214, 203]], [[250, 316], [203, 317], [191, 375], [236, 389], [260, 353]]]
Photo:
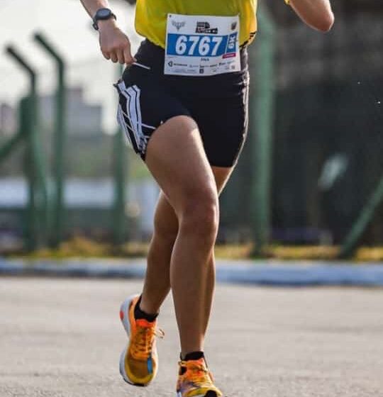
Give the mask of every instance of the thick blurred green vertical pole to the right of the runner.
[[256, 138], [252, 140], [255, 179], [252, 184], [253, 255], [262, 255], [270, 237], [270, 189], [272, 174], [272, 120], [274, 104], [274, 24], [264, 8], [259, 13], [258, 54], [252, 60], [255, 69], [256, 95], [250, 111]]

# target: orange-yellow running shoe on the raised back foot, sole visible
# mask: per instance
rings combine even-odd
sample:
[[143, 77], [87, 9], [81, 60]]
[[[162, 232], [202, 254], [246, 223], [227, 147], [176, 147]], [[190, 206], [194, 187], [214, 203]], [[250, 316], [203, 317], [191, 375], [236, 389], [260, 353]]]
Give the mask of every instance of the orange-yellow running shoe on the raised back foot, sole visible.
[[158, 369], [155, 337], [163, 337], [157, 330], [157, 321], [149, 322], [134, 317], [139, 295], [130, 296], [121, 304], [120, 318], [129, 337], [129, 343], [120, 357], [120, 374], [128, 384], [147, 386], [155, 378]]

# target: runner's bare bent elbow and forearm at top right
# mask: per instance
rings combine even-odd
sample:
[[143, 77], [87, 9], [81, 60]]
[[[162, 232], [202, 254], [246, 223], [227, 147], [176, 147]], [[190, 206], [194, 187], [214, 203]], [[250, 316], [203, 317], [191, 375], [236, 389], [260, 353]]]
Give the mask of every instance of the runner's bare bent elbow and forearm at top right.
[[290, 0], [296, 14], [311, 28], [327, 32], [334, 23], [329, 0]]

